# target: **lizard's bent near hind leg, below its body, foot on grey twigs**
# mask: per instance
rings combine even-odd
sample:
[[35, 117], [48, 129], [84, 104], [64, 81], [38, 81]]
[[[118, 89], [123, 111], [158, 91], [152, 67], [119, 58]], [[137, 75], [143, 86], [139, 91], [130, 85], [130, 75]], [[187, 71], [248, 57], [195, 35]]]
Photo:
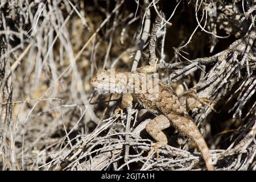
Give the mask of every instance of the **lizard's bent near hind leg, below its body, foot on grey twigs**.
[[168, 139], [162, 130], [167, 129], [168, 127], [170, 127], [170, 121], [164, 115], [158, 115], [151, 122], [147, 123], [147, 133], [156, 140], [156, 143], [152, 144], [152, 149], [148, 152], [148, 156], [156, 151], [156, 156], [159, 158], [158, 148], [166, 146], [168, 143]]

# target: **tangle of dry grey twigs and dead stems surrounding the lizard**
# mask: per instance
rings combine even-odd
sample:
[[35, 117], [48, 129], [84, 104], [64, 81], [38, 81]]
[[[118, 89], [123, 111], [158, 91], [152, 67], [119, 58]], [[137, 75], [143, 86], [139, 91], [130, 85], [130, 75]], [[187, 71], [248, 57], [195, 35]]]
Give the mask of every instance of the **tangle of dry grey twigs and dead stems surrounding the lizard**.
[[190, 113], [214, 167], [255, 171], [255, 10], [253, 0], [1, 1], [0, 167], [203, 170], [173, 128], [160, 158], [148, 158], [153, 116], [135, 103], [114, 116], [120, 96], [89, 84], [98, 69], [134, 71], [158, 57], [177, 94], [193, 87], [216, 101], [216, 113]]

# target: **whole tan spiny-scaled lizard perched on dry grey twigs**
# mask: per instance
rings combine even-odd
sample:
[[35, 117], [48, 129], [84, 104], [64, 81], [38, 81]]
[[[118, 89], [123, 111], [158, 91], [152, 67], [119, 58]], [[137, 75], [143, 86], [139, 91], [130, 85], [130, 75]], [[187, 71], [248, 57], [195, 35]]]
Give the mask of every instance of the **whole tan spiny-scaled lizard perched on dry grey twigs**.
[[[171, 86], [168, 86], [165, 82], [160, 81], [150, 74], [156, 71], [156, 63], [157, 60], [155, 63], [149, 61], [149, 65], [138, 68], [137, 72], [100, 70], [97, 72], [96, 76], [92, 78], [90, 84], [98, 90], [123, 93], [121, 105], [115, 110], [121, 111], [121, 115], [123, 109], [132, 106], [132, 102], [135, 98], [147, 111], [156, 116], [146, 125], [147, 133], [156, 140], [156, 143], [152, 144], [152, 150], [148, 155], [152, 154], [155, 150], [158, 154], [158, 148], [167, 145], [168, 139], [162, 130], [172, 125], [175, 129], [179, 130], [196, 143], [203, 156], [207, 169], [209, 171], [214, 170], [209, 148], [187, 111], [192, 110], [195, 104], [190, 104], [189, 109], [186, 109], [183, 105], [184, 102], [189, 102], [189, 100], [185, 100], [183, 97], [183, 100], [180, 101]], [[148, 81], [148, 78], [150, 78], [149, 80], [151, 81]], [[135, 84], [136, 81], [137, 84]], [[152, 83], [156, 83], [154, 86], [157, 86], [158, 90], [154, 90], [155, 88], [153, 88], [145, 92], [145, 90], [142, 89], [143, 84], [152, 86]], [[130, 92], [127, 90], [130, 90]], [[183, 104], [181, 104], [181, 102], [183, 102]], [[196, 103], [196, 101], [194, 102]], [[201, 102], [205, 104], [204, 98], [201, 99]]]

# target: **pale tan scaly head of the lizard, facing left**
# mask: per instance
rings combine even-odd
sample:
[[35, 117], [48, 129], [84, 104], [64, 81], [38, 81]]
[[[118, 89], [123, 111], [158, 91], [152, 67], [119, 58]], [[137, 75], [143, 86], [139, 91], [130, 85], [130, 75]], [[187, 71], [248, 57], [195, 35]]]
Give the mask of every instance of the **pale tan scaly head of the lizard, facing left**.
[[110, 71], [101, 70], [90, 80], [90, 84], [98, 91], [122, 93], [126, 88], [127, 78], [125, 73], [115, 73], [114, 69]]

